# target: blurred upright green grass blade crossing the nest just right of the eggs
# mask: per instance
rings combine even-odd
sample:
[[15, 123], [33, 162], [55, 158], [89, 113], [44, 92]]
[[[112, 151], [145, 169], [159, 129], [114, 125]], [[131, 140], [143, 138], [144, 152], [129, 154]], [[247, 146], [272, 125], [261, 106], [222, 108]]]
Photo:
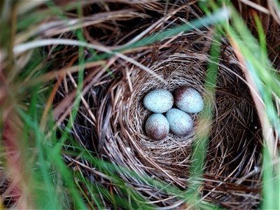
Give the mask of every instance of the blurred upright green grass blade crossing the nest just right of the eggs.
[[211, 131], [211, 120], [213, 118], [213, 109], [216, 92], [216, 78], [218, 75], [218, 63], [221, 53], [221, 43], [218, 38], [219, 34], [214, 34], [214, 41], [211, 45], [209, 64], [205, 78], [205, 95], [204, 109], [202, 110], [199, 125], [197, 128], [197, 136], [193, 144], [192, 163], [190, 165], [190, 183], [186, 200], [194, 205], [197, 202], [197, 196], [202, 187], [202, 175], [204, 169], [204, 158], [207, 156], [207, 147], [209, 135]]

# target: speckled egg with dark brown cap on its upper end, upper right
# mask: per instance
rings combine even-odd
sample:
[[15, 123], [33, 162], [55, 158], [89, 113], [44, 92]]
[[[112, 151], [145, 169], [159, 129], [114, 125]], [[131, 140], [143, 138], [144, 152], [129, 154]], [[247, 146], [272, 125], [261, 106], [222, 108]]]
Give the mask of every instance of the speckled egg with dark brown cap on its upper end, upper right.
[[202, 111], [204, 103], [200, 92], [193, 87], [180, 87], [174, 92], [176, 106], [188, 113], [198, 113]]

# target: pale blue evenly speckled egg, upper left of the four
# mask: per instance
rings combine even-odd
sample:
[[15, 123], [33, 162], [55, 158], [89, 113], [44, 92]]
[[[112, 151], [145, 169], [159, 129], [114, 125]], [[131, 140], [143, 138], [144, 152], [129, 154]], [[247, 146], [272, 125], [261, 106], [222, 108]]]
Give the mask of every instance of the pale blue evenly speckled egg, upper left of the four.
[[165, 113], [172, 109], [173, 104], [173, 95], [168, 90], [152, 90], [144, 97], [144, 106], [154, 113]]

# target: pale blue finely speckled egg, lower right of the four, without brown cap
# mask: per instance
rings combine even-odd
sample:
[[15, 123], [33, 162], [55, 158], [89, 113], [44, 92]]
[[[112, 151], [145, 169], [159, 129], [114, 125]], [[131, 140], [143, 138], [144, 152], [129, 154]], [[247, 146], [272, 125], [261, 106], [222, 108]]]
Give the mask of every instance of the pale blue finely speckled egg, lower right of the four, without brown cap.
[[193, 120], [188, 113], [180, 109], [170, 109], [166, 113], [170, 130], [179, 136], [186, 136], [193, 130]]

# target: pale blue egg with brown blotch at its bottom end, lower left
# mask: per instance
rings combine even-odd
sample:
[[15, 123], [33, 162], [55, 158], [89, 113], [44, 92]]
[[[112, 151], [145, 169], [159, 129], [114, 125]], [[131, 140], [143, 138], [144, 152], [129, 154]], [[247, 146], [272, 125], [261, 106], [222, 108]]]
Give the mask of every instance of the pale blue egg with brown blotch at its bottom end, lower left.
[[155, 140], [165, 139], [169, 133], [169, 123], [161, 113], [154, 113], [149, 116], [145, 128], [148, 137]]

